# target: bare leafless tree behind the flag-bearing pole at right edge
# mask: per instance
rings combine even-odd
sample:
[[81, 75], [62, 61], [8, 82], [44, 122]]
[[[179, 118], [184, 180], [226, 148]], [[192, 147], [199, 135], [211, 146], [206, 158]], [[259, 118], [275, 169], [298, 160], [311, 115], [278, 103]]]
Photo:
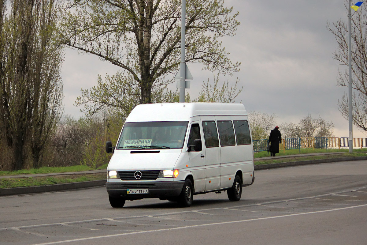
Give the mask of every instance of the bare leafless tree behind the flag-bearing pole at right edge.
[[[346, 9], [349, 9], [348, 1], [345, 1]], [[367, 132], [367, 8], [362, 5], [352, 17], [352, 83], [353, 83], [353, 124], [361, 131]], [[328, 23], [328, 29], [337, 40], [337, 51], [334, 59], [341, 65], [348, 67], [348, 28], [347, 23], [338, 19], [332, 24]], [[348, 69], [339, 71], [337, 86], [348, 87]], [[348, 120], [348, 95], [339, 100], [339, 111]]]

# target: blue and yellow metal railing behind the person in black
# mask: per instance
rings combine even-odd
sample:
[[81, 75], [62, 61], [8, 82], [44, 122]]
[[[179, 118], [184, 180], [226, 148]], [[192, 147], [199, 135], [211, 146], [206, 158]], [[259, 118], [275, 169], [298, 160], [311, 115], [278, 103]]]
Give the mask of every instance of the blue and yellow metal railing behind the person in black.
[[[367, 147], [367, 138], [353, 138], [353, 148]], [[268, 140], [252, 140], [254, 152], [266, 151], [268, 147]], [[301, 148], [338, 148], [349, 147], [348, 137], [301, 137], [301, 138], [286, 138], [282, 139], [279, 145], [279, 150], [290, 150]]]

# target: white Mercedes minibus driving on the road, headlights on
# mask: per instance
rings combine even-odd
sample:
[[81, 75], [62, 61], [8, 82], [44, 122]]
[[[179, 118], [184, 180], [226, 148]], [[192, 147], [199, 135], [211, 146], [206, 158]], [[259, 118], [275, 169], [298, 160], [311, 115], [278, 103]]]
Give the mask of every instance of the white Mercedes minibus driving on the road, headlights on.
[[193, 195], [226, 191], [239, 201], [254, 183], [251, 130], [243, 104], [143, 104], [121, 130], [107, 167], [112, 207], [159, 198], [189, 207]]

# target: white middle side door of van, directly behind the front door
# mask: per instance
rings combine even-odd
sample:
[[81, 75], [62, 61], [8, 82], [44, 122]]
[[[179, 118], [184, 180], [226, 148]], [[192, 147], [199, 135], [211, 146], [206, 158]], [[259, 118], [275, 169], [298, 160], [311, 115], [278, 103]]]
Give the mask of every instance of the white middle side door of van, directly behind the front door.
[[203, 126], [203, 148], [206, 153], [205, 191], [217, 190], [221, 186], [221, 151], [214, 116], [200, 116]]

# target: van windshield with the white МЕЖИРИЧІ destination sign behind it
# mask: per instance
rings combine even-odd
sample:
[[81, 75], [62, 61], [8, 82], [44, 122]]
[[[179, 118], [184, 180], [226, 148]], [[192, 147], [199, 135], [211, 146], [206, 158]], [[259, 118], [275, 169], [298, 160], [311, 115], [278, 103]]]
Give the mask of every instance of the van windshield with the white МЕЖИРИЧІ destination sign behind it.
[[188, 123], [188, 121], [125, 123], [116, 149], [182, 148]]

